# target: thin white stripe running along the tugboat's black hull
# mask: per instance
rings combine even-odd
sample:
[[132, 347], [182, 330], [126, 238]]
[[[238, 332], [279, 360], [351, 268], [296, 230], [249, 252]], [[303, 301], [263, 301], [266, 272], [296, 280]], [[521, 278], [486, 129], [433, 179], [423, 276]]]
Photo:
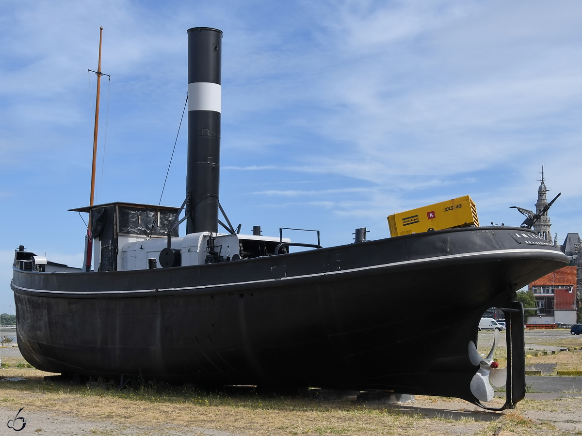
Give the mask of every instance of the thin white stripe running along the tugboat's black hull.
[[[236, 283], [223, 283], [223, 284], [216, 284], [216, 285], [203, 285], [203, 286], [188, 286], [182, 288], [161, 288], [161, 289], [144, 289], [144, 290], [136, 290], [136, 291], [86, 291], [86, 292], [79, 292], [79, 291], [46, 291], [46, 290], [38, 290], [38, 289], [29, 289], [29, 288], [22, 288], [15, 284], [12, 284], [13, 287], [18, 288], [22, 291], [30, 291], [30, 292], [48, 292], [50, 294], [79, 294], [79, 295], [94, 295], [94, 294], [137, 294], [140, 292], [162, 292], [162, 291], [186, 291], [186, 290], [199, 290], [199, 289], [208, 289], [208, 288], [219, 288], [219, 287], [226, 287], [226, 286], [236, 286], [236, 285], [245, 285], [245, 284], [255, 284], [255, 283], [267, 283], [267, 282], [274, 282], [274, 281], [283, 281], [283, 280], [295, 280], [297, 278], [309, 278], [309, 277], [320, 277], [320, 276], [332, 276], [334, 274], [346, 274], [352, 273], [354, 271], [366, 271], [372, 269], [381, 269], [389, 266], [401, 266], [401, 265], [411, 265], [414, 263], [422, 263], [422, 262], [431, 262], [432, 260], [446, 260], [446, 259], [457, 259], [457, 258], [469, 258], [473, 256], [482, 256], [482, 255], [491, 255], [491, 254], [509, 254], [509, 253], [548, 253], [548, 250], [541, 250], [541, 249], [507, 249], [507, 250], [491, 250], [491, 251], [481, 251], [478, 253], [461, 253], [456, 255], [446, 255], [446, 256], [437, 256], [435, 258], [425, 258], [425, 259], [414, 259], [414, 260], [403, 260], [402, 262], [393, 262], [393, 263], [384, 263], [383, 265], [374, 265], [374, 266], [364, 266], [361, 268], [353, 268], [350, 270], [340, 270], [340, 271], [329, 271], [327, 273], [317, 273], [317, 274], [306, 274], [304, 276], [292, 276], [292, 277], [281, 277], [281, 278], [268, 278], [265, 280], [252, 280], [252, 281], [241, 281]], [[63, 273], [66, 274], [66, 273]]]

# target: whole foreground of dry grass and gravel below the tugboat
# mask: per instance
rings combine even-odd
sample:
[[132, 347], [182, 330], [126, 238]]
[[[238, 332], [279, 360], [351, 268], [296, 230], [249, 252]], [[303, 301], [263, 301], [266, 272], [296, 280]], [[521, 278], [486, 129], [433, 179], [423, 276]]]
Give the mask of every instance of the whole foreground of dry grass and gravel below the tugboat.
[[[526, 399], [516, 410], [499, 413], [428, 396], [400, 406], [367, 406], [355, 399], [74, 385], [44, 381], [47, 373], [32, 368], [2, 369], [1, 374], [0, 435], [492, 435], [499, 428], [501, 436], [582, 434], [582, 397], [568, 394]], [[15, 433], [5, 423], [22, 407], [26, 428]]]

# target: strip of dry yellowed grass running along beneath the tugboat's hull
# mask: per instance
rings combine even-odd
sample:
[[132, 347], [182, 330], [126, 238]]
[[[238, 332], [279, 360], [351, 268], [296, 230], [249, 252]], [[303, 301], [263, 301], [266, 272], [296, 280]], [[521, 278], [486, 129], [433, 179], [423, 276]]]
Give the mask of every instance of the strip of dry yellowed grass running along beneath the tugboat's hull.
[[[112, 421], [122, 426], [152, 428], [203, 427], [249, 435], [412, 435], [447, 434], [450, 426], [486, 427], [470, 413], [420, 413], [414, 405], [364, 405], [353, 401], [316, 401], [300, 396], [261, 396], [254, 393], [226, 395], [165, 384], [133, 385], [118, 389], [114, 384], [75, 385], [44, 381], [48, 375], [36, 369], [2, 370], [0, 405], [7, 408], [72, 414], [84, 420]], [[437, 398], [449, 405], [473, 406], [459, 399]], [[432, 398], [417, 403], [432, 408]], [[433, 410], [433, 409], [429, 409]], [[494, 416], [478, 412], [478, 416]], [[101, 434], [99, 431], [95, 430]]]

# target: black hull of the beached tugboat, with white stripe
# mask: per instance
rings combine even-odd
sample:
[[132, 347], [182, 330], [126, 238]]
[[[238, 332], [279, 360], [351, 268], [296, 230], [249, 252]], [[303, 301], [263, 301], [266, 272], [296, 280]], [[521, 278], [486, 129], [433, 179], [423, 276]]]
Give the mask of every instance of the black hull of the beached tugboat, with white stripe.
[[[467, 354], [492, 306], [567, 258], [516, 228], [463, 228], [171, 269], [15, 269], [38, 369], [198, 384], [391, 389], [474, 401]], [[519, 233], [533, 232], [519, 229]]]

